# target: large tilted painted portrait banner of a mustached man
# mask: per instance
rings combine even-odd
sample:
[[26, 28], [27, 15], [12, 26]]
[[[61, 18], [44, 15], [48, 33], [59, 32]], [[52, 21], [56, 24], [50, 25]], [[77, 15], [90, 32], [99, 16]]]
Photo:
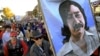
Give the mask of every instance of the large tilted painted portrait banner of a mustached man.
[[100, 45], [89, 0], [39, 0], [57, 56], [90, 56]]

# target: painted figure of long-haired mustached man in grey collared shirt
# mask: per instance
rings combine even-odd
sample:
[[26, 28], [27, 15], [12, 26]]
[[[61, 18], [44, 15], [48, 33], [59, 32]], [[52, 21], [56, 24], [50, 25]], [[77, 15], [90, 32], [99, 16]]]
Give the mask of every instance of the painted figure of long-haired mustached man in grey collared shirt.
[[57, 56], [90, 56], [99, 46], [99, 38], [97, 33], [88, 31], [83, 8], [75, 1], [66, 0], [60, 4], [59, 13], [64, 23], [62, 34], [67, 42]]

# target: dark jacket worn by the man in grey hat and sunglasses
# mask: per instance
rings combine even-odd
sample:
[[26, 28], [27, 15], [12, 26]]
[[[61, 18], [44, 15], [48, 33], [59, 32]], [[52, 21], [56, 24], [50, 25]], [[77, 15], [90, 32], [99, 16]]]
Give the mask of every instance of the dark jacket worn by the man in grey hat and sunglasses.
[[30, 56], [51, 56], [50, 45], [48, 41], [43, 40], [42, 49], [38, 47], [35, 43], [30, 49]]

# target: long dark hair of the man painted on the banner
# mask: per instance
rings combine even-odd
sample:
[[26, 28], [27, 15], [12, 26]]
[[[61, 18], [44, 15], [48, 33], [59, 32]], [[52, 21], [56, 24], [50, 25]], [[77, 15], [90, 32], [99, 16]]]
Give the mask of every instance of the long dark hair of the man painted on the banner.
[[85, 16], [85, 13], [84, 13], [84, 10], [83, 8], [76, 2], [74, 1], [70, 1], [70, 0], [66, 0], [64, 2], [62, 2], [59, 6], [59, 13], [60, 13], [60, 16], [63, 20], [63, 28], [61, 29], [62, 30], [62, 35], [68, 37], [67, 39], [69, 39], [71, 33], [70, 33], [70, 30], [69, 30], [69, 27], [67, 26], [66, 24], [66, 19], [68, 18], [68, 12], [70, 10], [70, 5], [75, 5], [76, 7], [78, 7], [80, 9], [80, 11], [82, 12], [83, 14], [83, 17], [84, 17], [84, 20], [85, 20], [85, 29], [88, 30], [89, 28], [87, 27], [87, 18]]

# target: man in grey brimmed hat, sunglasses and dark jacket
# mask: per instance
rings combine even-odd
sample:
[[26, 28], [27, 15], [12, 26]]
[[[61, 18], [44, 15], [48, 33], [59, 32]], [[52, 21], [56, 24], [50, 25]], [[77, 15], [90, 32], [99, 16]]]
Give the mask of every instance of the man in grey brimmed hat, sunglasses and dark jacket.
[[51, 56], [50, 44], [39, 31], [34, 31], [32, 40], [35, 43], [30, 49], [30, 56]]

